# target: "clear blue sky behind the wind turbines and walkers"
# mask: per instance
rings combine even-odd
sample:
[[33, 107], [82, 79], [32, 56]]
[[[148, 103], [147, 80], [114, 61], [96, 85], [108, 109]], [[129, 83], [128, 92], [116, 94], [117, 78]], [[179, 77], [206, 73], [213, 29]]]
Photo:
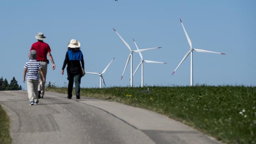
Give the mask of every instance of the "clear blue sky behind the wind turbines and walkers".
[[[256, 1], [255, 0], [2, 0], [0, 2], [0, 76], [13, 76], [22, 83], [34, 36], [44, 32], [52, 49], [56, 70], [48, 66], [46, 81], [58, 86], [68, 83], [61, 68], [68, 42], [81, 42], [85, 69], [102, 72], [106, 85], [128, 86], [130, 66], [120, 80], [128, 48], [112, 28], [136, 49], [162, 46], [143, 52], [146, 60], [168, 64], [144, 64], [144, 84], [190, 85], [190, 56], [171, 76], [189, 50], [179, 18], [194, 48], [223, 52], [226, 55], [194, 52], [194, 84], [256, 85]], [[134, 69], [140, 62], [134, 54]], [[140, 86], [140, 70], [134, 86]], [[86, 74], [82, 87], [98, 87], [99, 77]]]

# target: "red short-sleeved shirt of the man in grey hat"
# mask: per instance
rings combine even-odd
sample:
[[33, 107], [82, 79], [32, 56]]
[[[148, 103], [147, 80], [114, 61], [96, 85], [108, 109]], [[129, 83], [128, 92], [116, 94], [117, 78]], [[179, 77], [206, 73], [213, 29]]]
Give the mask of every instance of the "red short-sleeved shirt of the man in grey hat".
[[47, 53], [51, 51], [51, 48], [45, 42], [35, 42], [32, 44], [30, 50], [36, 50], [36, 60], [47, 60]]

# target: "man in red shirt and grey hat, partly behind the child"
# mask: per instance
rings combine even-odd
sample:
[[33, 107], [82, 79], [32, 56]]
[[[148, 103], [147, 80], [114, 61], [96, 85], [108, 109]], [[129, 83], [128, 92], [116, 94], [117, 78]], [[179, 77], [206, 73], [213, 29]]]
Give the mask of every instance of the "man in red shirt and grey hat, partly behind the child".
[[[55, 69], [55, 63], [52, 58], [51, 48], [48, 44], [43, 42], [43, 40], [46, 37], [42, 32], [38, 32], [35, 38], [38, 40], [38, 42], [35, 42], [34, 44], [32, 44], [30, 51], [36, 50], [36, 53], [37, 53], [36, 60], [42, 65], [42, 71], [44, 74], [44, 78], [46, 79], [47, 64], [49, 63], [49, 61], [47, 60], [47, 55], [52, 62], [52, 70]], [[44, 85], [45, 83], [42, 81], [41, 75], [39, 75], [38, 98], [44, 98]]]

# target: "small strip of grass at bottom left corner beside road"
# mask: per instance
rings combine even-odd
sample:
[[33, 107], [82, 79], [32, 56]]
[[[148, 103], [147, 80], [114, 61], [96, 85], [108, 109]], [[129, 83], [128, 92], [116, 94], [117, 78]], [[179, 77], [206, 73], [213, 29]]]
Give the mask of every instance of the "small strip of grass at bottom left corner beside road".
[[11, 144], [12, 138], [9, 131], [10, 119], [0, 105], [0, 144]]

